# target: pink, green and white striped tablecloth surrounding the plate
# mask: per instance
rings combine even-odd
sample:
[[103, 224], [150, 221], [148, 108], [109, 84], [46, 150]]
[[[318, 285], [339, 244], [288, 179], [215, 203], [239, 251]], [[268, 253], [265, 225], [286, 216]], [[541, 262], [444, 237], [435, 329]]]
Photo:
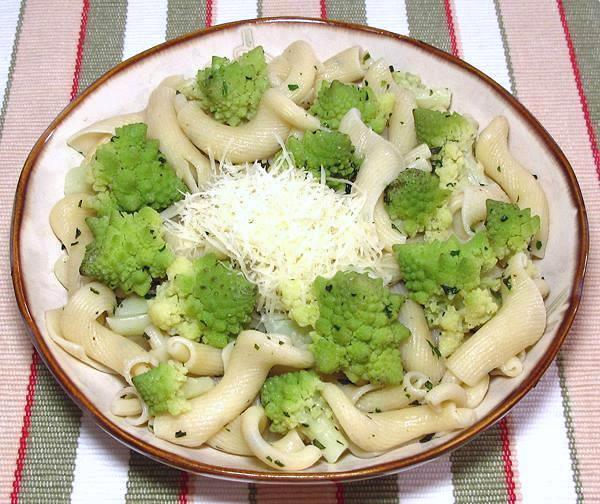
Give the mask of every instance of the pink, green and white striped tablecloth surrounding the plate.
[[[398, 476], [273, 487], [189, 476], [132, 453], [65, 397], [35, 353], [9, 280], [21, 166], [77, 94], [165, 39], [243, 18], [303, 15], [386, 28], [456, 54], [511, 90], [558, 141], [587, 203], [586, 292], [558, 361], [502, 422]], [[598, 0], [1, 0], [0, 502], [600, 501]]]

